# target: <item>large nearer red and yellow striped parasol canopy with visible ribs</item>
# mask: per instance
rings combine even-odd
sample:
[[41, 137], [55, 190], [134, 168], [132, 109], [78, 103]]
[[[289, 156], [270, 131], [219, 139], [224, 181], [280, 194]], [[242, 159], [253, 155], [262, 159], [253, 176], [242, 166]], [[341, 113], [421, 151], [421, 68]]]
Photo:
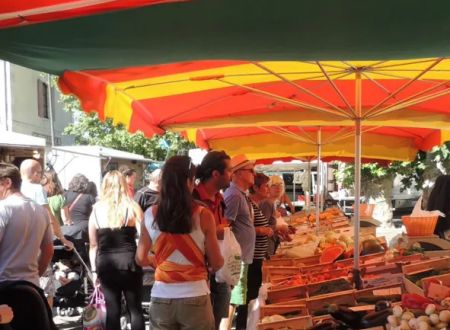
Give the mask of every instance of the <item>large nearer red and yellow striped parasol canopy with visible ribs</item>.
[[251, 126], [446, 129], [450, 59], [200, 61], [65, 72], [85, 111], [130, 131]]

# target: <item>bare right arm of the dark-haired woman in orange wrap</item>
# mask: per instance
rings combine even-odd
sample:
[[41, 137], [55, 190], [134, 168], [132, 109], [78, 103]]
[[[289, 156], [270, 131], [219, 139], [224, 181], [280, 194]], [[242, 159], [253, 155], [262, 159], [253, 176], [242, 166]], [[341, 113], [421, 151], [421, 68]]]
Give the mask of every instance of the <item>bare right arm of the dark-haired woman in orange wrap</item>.
[[212, 272], [216, 272], [223, 266], [224, 261], [217, 241], [214, 215], [206, 208], [203, 208], [200, 213], [200, 226], [205, 234], [205, 252], [208, 265]]

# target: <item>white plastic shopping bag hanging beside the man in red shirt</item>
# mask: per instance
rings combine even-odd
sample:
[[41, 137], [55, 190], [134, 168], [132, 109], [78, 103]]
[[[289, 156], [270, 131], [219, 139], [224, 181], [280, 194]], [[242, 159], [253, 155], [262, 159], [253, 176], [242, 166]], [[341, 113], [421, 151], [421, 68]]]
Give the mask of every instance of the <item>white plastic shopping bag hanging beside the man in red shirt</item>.
[[241, 274], [241, 246], [229, 227], [224, 228], [223, 240], [219, 241], [223, 266], [216, 272], [216, 282], [236, 285]]

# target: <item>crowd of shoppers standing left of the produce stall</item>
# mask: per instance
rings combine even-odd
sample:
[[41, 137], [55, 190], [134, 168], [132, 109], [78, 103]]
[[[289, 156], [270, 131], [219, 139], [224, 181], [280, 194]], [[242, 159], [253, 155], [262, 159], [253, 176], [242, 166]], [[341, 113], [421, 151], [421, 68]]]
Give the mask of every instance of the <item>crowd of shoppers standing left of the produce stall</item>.
[[[7, 174], [0, 166], [0, 184], [9, 188], [4, 194], [0, 190], [1, 198], [8, 201], [0, 202], [0, 289], [5, 281], [25, 281], [40, 297], [44, 294], [39, 286], [44, 287], [51, 298], [39, 276], [53, 277], [49, 263], [54, 234], [69, 249], [72, 242], [77, 250], [89, 242], [86, 259], [94, 285], [105, 295], [107, 329], [120, 329], [122, 296], [132, 329], [144, 329], [142, 267], [148, 266], [155, 269], [152, 329], [219, 329], [230, 316], [230, 304], [236, 307], [236, 329], [246, 328], [248, 303], [261, 286], [262, 262], [274, 250], [270, 241], [276, 236], [281, 195], [276, 182], [256, 174], [254, 163], [244, 155], [230, 158], [223, 151], [211, 151], [198, 167], [187, 156], [174, 156], [150, 174], [148, 186], [136, 192], [136, 171], [121, 167], [104, 175], [99, 197], [95, 184], [83, 174], [75, 175], [64, 191], [56, 173], [43, 174], [36, 160], [22, 163], [18, 182], [10, 174], [17, 169], [2, 166]], [[2, 213], [16, 204], [33, 209], [26, 217], [20, 213], [23, 210], [13, 212], [21, 218], [16, 224], [20, 229]], [[14, 251], [4, 248], [27, 226], [33, 226], [26, 231], [33, 239], [20, 240], [26, 248], [17, 244]], [[219, 241], [226, 227], [242, 250], [241, 275], [233, 288], [215, 279], [224, 263]], [[10, 253], [28, 265], [28, 273], [18, 271], [23, 266], [8, 259]], [[12, 313], [22, 315], [10, 303], [12, 310], [0, 306], [0, 322]]]

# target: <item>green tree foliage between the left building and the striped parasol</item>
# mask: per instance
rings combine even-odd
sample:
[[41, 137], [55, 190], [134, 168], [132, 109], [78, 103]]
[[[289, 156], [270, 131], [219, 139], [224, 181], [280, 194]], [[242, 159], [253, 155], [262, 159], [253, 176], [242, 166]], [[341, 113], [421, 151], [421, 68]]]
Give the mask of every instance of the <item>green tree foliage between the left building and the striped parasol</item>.
[[114, 148], [154, 160], [185, 154], [194, 147], [177, 133], [166, 132], [162, 136], [148, 138], [142, 132], [129, 133], [123, 125], [114, 125], [111, 119], [102, 122], [96, 113], [83, 112], [73, 96], [61, 94], [60, 102], [66, 111], [74, 115], [74, 123], [64, 129], [64, 134], [73, 136], [78, 145]]

